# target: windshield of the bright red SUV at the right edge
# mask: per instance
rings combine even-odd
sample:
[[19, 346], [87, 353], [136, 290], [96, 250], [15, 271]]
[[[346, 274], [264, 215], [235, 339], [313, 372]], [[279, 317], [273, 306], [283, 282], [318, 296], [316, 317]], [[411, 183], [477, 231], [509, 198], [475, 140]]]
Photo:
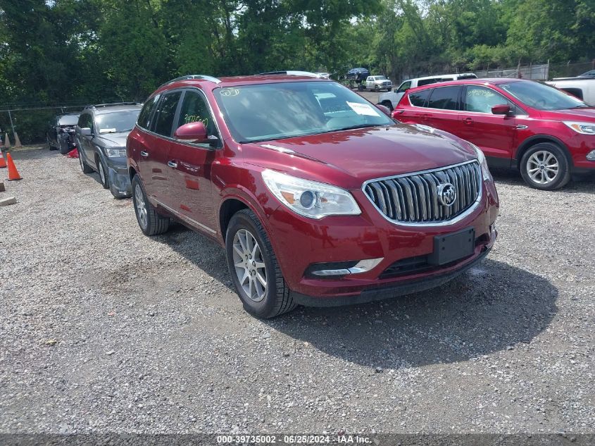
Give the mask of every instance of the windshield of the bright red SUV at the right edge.
[[537, 110], [564, 110], [587, 107], [580, 99], [539, 82], [511, 82], [500, 87], [516, 99]]

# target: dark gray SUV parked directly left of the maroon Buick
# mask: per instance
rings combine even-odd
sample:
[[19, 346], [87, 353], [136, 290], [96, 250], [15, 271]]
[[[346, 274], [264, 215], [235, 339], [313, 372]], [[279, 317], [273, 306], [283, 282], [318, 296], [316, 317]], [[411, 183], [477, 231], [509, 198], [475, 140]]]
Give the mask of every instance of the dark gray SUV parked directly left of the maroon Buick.
[[101, 185], [114, 197], [130, 197], [132, 187], [126, 166], [126, 137], [137, 122], [141, 105], [136, 102], [85, 107], [76, 128], [80, 167], [99, 173]]

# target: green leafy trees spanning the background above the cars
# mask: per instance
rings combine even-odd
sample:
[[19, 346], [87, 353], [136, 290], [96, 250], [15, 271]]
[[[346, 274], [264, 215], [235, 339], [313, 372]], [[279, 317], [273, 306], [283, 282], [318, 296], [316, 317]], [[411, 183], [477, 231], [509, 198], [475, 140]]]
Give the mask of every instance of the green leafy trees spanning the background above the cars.
[[0, 0], [4, 108], [142, 101], [187, 73], [399, 80], [594, 51], [595, 0]]

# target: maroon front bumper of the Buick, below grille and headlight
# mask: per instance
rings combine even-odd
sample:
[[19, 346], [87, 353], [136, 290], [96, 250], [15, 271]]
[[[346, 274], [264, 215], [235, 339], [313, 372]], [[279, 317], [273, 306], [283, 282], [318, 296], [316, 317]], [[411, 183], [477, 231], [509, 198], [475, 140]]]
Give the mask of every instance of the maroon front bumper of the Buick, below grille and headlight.
[[[499, 202], [493, 183], [484, 183], [477, 207], [461, 221], [451, 225], [406, 226], [384, 219], [361, 190], [351, 191], [360, 205], [360, 216], [329, 216], [319, 221], [296, 216], [279, 206], [268, 219], [270, 238], [284, 279], [297, 302], [313, 306], [333, 306], [425, 290], [470, 268], [489, 252], [496, 240], [494, 221]], [[396, 262], [434, 252], [434, 237], [475, 230], [475, 251], [441, 267], [387, 275]], [[339, 278], [308, 275], [317, 263], [380, 259], [363, 273]]]

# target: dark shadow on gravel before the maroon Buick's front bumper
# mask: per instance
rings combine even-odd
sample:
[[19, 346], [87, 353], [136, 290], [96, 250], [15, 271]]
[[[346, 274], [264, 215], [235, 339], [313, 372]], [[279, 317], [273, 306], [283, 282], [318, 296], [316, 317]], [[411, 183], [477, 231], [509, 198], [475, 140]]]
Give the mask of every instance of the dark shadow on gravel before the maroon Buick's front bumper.
[[557, 297], [548, 280], [485, 260], [436, 290], [357, 306], [300, 307], [265, 323], [343, 361], [424, 366], [531, 342], [556, 314]]

